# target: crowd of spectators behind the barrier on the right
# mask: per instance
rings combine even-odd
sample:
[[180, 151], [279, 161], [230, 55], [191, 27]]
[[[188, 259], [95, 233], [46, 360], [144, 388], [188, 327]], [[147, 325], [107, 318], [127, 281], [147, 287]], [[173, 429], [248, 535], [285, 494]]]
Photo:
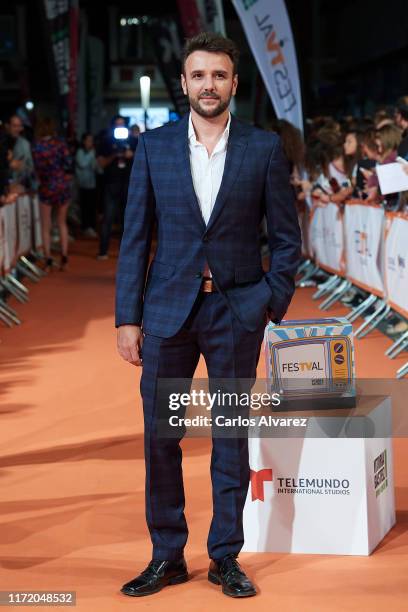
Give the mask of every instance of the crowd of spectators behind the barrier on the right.
[[394, 112], [379, 110], [373, 117], [316, 117], [308, 122], [305, 141], [285, 120], [271, 126], [281, 138], [292, 166], [298, 204], [313, 208], [350, 198], [402, 210], [406, 194], [381, 194], [376, 167], [399, 161], [408, 174], [408, 96]]

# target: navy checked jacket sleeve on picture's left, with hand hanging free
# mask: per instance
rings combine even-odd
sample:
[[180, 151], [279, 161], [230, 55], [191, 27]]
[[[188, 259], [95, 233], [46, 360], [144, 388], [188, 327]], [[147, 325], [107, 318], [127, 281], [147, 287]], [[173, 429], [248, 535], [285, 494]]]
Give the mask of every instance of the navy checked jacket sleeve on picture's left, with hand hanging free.
[[141, 325], [155, 200], [143, 135], [139, 138], [129, 181], [124, 233], [116, 275], [115, 325]]

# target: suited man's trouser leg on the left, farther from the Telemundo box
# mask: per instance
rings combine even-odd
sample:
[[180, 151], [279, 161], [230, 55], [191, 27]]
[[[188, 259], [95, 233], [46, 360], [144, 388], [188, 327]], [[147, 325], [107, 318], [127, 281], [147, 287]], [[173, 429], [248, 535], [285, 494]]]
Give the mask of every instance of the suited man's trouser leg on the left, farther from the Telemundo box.
[[180, 437], [158, 437], [160, 379], [187, 379], [200, 353], [194, 334], [181, 330], [172, 338], [146, 335], [143, 342], [141, 393], [145, 424], [146, 521], [153, 543], [153, 559], [176, 560], [183, 555], [188, 528], [184, 516], [184, 486]]

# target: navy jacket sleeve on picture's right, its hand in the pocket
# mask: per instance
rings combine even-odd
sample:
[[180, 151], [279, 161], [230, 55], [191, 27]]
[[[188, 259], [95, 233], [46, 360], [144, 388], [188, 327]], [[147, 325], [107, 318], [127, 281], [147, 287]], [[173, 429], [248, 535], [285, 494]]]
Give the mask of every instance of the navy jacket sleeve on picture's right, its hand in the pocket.
[[265, 183], [265, 208], [270, 252], [266, 280], [272, 291], [269, 309], [275, 323], [284, 317], [295, 290], [301, 235], [290, 184], [289, 164], [279, 137], [272, 150]]

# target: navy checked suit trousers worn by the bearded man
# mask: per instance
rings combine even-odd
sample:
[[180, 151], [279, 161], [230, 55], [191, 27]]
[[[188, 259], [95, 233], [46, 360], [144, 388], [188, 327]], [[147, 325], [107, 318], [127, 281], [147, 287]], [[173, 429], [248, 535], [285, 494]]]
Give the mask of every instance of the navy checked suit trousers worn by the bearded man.
[[[158, 381], [161, 378], [191, 380], [200, 354], [207, 365], [210, 385], [211, 379], [255, 380], [264, 329], [265, 321], [260, 321], [256, 331], [247, 331], [222, 294], [200, 292], [187, 321], [175, 336], [159, 338], [146, 334], [144, 337], [141, 394], [146, 520], [154, 559], [179, 558], [188, 537], [182, 434], [169, 438], [159, 437], [157, 433]], [[249, 486], [247, 437], [213, 436], [211, 481], [213, 517], [207, 548], [212, 559], [221, 559], [229, 553], [238, 554], [244, 543], [242, 515]]]

